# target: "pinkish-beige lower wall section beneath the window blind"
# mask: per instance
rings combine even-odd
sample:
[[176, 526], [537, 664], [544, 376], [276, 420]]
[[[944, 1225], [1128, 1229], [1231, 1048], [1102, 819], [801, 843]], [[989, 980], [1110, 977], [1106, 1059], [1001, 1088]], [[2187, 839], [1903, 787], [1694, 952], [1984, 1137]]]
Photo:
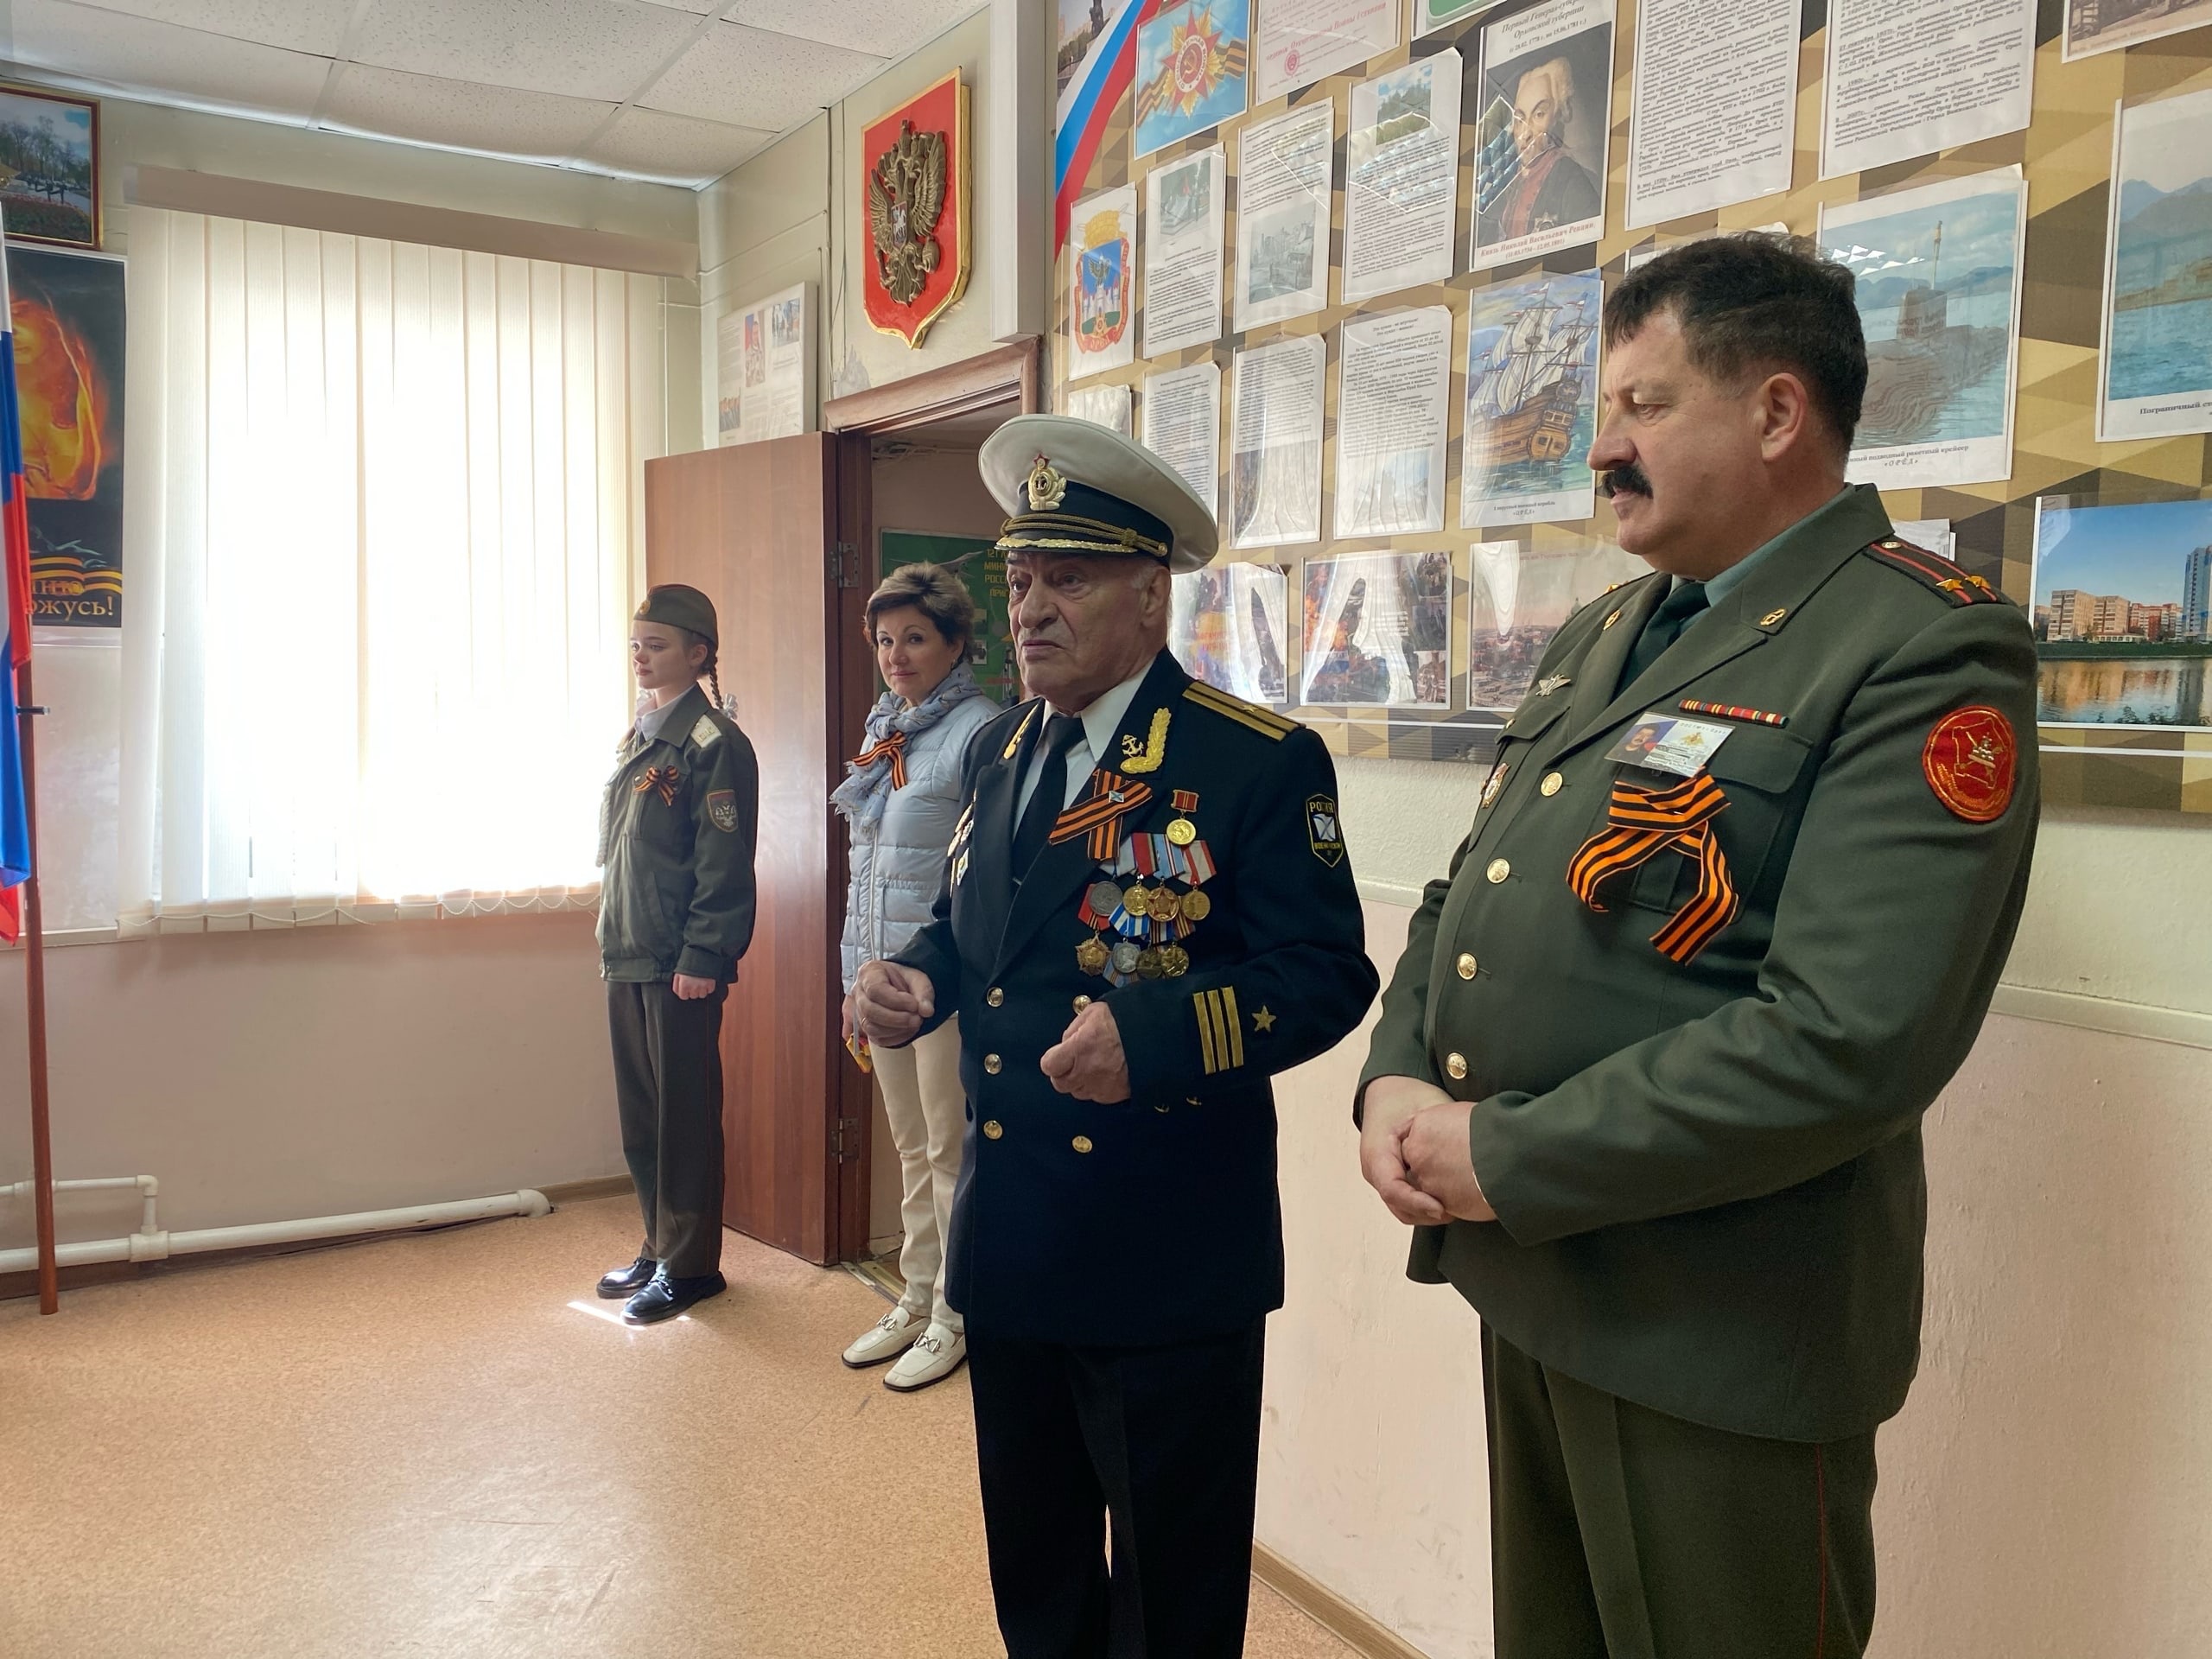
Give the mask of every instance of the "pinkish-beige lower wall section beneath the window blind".
[[[49, 951], [55, 1172], [153, 1175], [170, 1230], [619, 1172], [597, 967], [580, 911]], [[27, 1164], [20, 951], [0, 1006], [7, 1170]], [[29, 1243], [27, 1208], [0, 1203], [0, 1248]], [[137, 1208], [64, 1194], [60, 1219], [108, 1239]]]

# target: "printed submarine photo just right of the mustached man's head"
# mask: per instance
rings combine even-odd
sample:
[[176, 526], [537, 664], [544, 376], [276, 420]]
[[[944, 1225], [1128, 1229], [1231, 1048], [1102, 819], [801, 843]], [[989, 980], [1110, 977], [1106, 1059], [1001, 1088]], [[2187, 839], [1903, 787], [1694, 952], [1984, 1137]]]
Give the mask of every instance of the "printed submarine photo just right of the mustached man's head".
[[1858, 279], [1867, 332], [1854, 480], [1909, 489], [2011, 476], [2022, 197], [2008, 168], [1825, 217], [1825, 252]]

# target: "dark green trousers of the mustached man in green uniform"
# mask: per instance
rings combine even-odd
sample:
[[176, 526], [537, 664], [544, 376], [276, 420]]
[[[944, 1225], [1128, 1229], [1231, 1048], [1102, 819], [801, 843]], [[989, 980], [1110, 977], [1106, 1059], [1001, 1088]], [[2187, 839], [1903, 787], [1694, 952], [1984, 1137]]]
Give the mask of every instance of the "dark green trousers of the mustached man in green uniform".
[[1874, 1628], [1874, 1431], [1652, 1411], [1482, 1327], [1498, 1659], [1847, 1659]]

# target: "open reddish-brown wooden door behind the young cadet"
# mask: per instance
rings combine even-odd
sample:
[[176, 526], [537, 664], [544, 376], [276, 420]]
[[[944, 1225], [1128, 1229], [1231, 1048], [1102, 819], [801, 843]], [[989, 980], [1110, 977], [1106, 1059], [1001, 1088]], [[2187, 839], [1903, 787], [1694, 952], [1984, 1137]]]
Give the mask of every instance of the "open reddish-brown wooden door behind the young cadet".
[[761, 761], [759, 916], [721, 1024], [723, 1221], [823, 1263], [847, 1254], [843, 1188], [867, 1121], [836, 1018], [845, 834], [830, 790], [860, 726], [845, 703], [865, 599], [838, 562], [836, 478], [821, 434], [646, 462], [646, 577], [714, 599], [721, 686]]

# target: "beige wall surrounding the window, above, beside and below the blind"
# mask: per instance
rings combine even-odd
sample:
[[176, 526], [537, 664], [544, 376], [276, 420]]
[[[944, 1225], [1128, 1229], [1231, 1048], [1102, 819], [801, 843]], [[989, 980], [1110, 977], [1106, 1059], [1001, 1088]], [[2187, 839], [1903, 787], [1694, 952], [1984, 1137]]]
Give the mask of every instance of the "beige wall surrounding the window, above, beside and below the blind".
[[[697, 197], [265, 122], [102, 102], [106, 230], [126, 168], [197, 168], [639, 237], [697, 237]], [[688, 299], [688, 285], [677, 283]], [[690, 312], [684, 314], [690, 319]], [[697, 347], [675, 332], [675, 447], [697, 445]], [[131, 568], [133, 549], [124, 549]], [[119, 666], [40, 644], [51, 929], [115, 920]], [[272, 688], [281, 695], [281, 688]], [[389, 922], [49, 951], [55, 1172], [155, 1175], [170, 1228], [476, 1197], [622, 1170], [591, 918]], [[22, 958], [0, 958], [0, 1181], [29, 1175]], [[0, 1230], [13, 1228], [0, 1206]], [[128, 1232], [106, 1199], [62, 1237]], [[7, 1243], [20, 1239], [0, 1232]], [[588, 1267], [591, 1263], [586, 1263]]]

